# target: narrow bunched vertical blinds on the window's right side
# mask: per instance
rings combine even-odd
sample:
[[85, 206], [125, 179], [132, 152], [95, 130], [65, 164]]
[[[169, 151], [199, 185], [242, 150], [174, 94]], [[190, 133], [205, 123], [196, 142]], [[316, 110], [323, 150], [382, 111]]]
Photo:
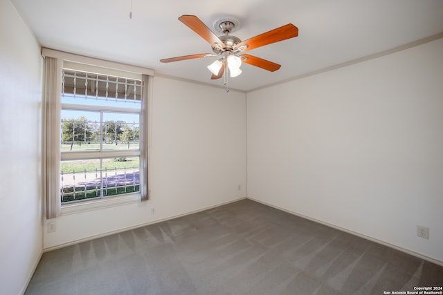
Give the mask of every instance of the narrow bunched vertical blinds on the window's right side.
[[142, 75], [142, 122], [141, 122], [141, 141], [140, 153], [141, 153], [141, 167], [140, 167], [140, 180], [141, 180], [141, 200], [145, 201], [149, 198], [149, 130], [150, 130], [150, 89], [152, 86], [152, 76]]

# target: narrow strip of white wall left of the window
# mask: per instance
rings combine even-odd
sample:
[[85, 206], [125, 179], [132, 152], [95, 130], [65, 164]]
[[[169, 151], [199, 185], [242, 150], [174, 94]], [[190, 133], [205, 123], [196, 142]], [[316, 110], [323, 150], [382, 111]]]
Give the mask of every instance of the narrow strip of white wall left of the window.
[[24, 292], [42, 253], [42, 57], [0, 1], [0, 294]]

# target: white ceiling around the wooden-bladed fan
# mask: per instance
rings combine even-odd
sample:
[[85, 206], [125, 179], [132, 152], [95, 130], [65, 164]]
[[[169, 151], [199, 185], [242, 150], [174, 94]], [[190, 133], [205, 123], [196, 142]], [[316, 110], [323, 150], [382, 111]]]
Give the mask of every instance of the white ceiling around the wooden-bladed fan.
[[[281, 64], [273, 73], [248, 64], [229, 80], [250, 91], [282, 80], [402, 46], [443, 32], [442, 0], [11, 0], [42, 46], [152, 68], [221, 86], [206, 68], [216, 57], [162, 64], [159, 59], [212, 53], [177, 18], [197, 15], [213, 31], [235, 17], [242, 40], [293, 23], [296, 38], [248, 51]], [[219, 35], [219, 33], [217, 33]]]

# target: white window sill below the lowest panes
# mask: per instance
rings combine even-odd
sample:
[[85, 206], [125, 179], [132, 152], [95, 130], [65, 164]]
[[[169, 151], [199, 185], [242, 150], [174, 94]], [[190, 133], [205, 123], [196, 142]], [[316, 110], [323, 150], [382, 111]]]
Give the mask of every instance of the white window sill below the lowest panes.
[[73, 213], [80, 213], [84, 211], [98, 210], [107, 207], [117, 207], [123, 204], [132, 204], [141, 202], [140, 193], [128, 193], [126, 196], [109, 197], [100, 200], [90, 200], [87, 202], [79, 202], [74, 204], [62, 205], [60, 215], [68, 215]]

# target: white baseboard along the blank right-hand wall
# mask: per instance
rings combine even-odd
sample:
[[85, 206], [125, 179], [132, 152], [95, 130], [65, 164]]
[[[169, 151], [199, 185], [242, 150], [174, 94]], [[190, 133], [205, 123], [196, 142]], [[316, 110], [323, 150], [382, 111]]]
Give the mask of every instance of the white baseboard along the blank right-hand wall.
[[440, 265], [440, 266], [443, 267], [443, 261], [440, 261], [440, 260], [437, 260], [437, 259], [434, 259], [434, 258], [431, 258], [431, 257], [425, 256], [425, 255], [423, 255], [423, 254], [419, 254], [419, 253], [417, 253], [417, 252], [415, 252], [415, 251], [410, 251], [410, 250], [408, 250], [408, 249], [405, 249], [405, 248], [399, 247], [399, 246], [397, 246], [397, 245], [390, 244], [389, 242], [384, 242], [383, 240], [378, 240], [377, 238], [372, 238], [372, 237], [370, 237], [370, 236], [365, 236], [364, 234], [359, 234], [359, 233], [356, 232], [356, 231], [351, 231], [350, 229], [345, 229], [344, 227], [338, 227], [338, 226], [336, 226], [336, 225], [332, 225], [331, 223], [324, 222], [324, 221], [318, 220], [318, 219], [316, 219], [316, 218], [311, 218], [311, 217], [309, 217], [309, 216], [305, 216], [305, 215], [302, 215], [302, 214], [300, 214], [300, 213], [297, 213], [297, 212], [294, 212], [294, 211], [291, 211], [291, 210], [288, 210], [288, 209], [284, 209], [284, 208], [282, 208], [282, 207], [278, 207], [278, 206], [275, 206], [275, 205], [273, 205], [273, 204], [269, 204], [269, 203], [267, 203], [267, 202], [263, 202], [263, 201], [261, 201], [261, 200], [256, 200], [256, 199], [254, 199], [254, 198], [250, 198], [250, 197], [246, 197], [246, 198], [249, 199], [249, 200], [253, 200], [253, 201], [255, 201], [255, 202], [259, 202], [260, 204], [264, 204], [264, 205], [266, 205], [266, 206], [273, 207], [273, 208], [278, 209], [278, 210], [280, 210], [280, 211], [284, 211], [284, 212], [287, 212], [287, 213], [289, 213], [289, 214], [292, 214], [292, 215], [295, 215], [295, 216], [298, 216], [298, 217], [301, 217], [301, 218], [305, 218], [305, 219], [307, 219], [307, 220], [314, 221], [314, 222], [316, 222], [316, 223], [319, 223], [320, 225], [325, 225], [325, 226], [327, 226], [327, 227], [332, 227], [333, 229], [338, 229], [339, 231], [344, 231], [344, 232], [346, 232], [347, 234], [352, 234], [352, 235], [354, 235], [354, 236], [358, 236], [358, 237], [360, 237], [360, 238], [364, 238], [365, 240], [370, 240], [371, 242], [377, 242], [377, 243], [380, 244], [380, 245], [383, 245], [383, 246], [386, 246], [386, 247], [390, 247], [390, 248], [392, 248], [392, 249], [399, 250], [399, 251], [404, 252], [404, 253], [406, 253], [406, 254], [410, 254], [410, 255], [415, 256], [415, 257], [417, 257], [417, 258], [420, 258], [420, 259], [426, 260], [426, 261], [428, 261], [428, 262], [430, 262], [430, 263], [435, 263], [436, 265]]

